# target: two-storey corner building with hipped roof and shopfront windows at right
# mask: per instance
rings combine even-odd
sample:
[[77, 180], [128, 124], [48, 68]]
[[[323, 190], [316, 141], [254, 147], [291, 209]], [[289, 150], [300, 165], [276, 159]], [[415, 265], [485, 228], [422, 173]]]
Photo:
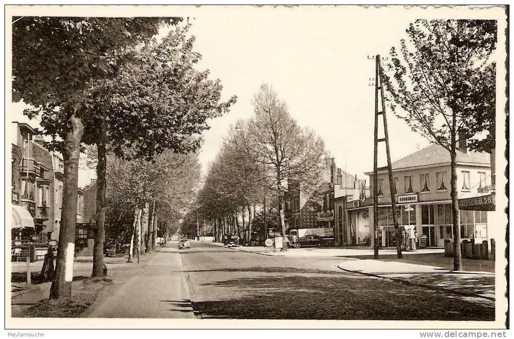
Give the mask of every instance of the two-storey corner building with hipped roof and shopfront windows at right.
[[[392, 163], [393, 191], [397, 204], [398, 225], [415, 227], [421, 247], [442, 247], [452, 239], [452, 213], [450, 197], [450, 153], [439, 145], [431, 145]], [[374, 192], [373, 172], [370, 176]], [[457, 150], [458, 198], [480, 197], [490, 187], [490, 156], [487, 153]], [[378, 239], [382, 247], [395, 247], [396, 238], [391, 208], [391, 191], [387, 168], [377, 174]], [[356, 235], [368, 229], [369, 244], [373, 245], [373, 199], [365, 199], [358, 207], [347, 208], [350, 227]], [[476, 242], [488, 240], [487, 211], [460, 211], [461, 238], [474, 238]], [[359, 241], [359, 240], [357, 240]]]

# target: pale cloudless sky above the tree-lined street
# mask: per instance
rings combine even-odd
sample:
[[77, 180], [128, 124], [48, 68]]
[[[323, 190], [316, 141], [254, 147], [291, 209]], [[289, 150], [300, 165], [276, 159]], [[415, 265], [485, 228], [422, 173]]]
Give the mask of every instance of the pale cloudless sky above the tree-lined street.
[[[237, 96], [230, 112], [211, 120], [204, 133], [204, 174], [230, 124], [252, 116], [251, 99], [267, 82], [287, 102], [290, 115], [325, 140], [337, 166], [360, 179], [373, 170], [374, 87], [369, 79], [375, 77], [375, 62], [368, 56], [386, 57], [406, 38], [409, 23], [443, 14], [402, 7], [201, 7], [176, 13], [189, 16], [194, 50], [202, 55], [197, 68], [221, 80], [224, 100]], [[11, 105], [13, 120], [25, 121], [23, 108]], [[390, 111], [387, 118], [392, 161], [429, 145]], [[378, 165], [386, 164], [381, 143]], [[94, 177], [81, 170], [79, 186]]]

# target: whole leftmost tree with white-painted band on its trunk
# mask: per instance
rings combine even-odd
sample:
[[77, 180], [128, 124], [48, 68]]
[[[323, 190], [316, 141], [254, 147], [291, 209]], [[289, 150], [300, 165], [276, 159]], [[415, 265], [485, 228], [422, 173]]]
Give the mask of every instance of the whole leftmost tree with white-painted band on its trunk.
[[150, 39], [163, 22], [176, 19], [33, 17], [13, 18], [13, 100], [33, 106], [50, 148], [64, 158], [64, 187], [56, 277], [50, 298], [71, 295], [77, 210], [77, 180], [84, 121], [95, 112], [91, 85], [111, 77], [122, 56]]

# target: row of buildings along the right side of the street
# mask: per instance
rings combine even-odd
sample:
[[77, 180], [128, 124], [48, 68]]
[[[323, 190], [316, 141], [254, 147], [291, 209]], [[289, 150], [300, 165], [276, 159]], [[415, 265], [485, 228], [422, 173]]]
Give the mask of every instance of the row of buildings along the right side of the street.
[[[326, 165], [316, 197], [307, 197], [299, 183], [289, 185], [288, 230], [324, 228], [336, 246], [373, 246], [374, 172], [365, 173], [368, 179], [359, 179], [337, 168], [334, 158], [327, 159]], [[422, 247], [444, 246], [446, 239], [453, 238], [449, 152], [439, 145], [428, 146], [393, 162], [392, 172], [398, 225], [412, 226]], [[387, 167], [378, 169], [377, 183], [379, 246], [395, 247]], [[461, 238], [489, 240], [491, 204], [484, 208], [484, 201], [494, 202], [494, 186], [488, 153], [471, 152], [465, 144], [457, 150], [457, 188]]]

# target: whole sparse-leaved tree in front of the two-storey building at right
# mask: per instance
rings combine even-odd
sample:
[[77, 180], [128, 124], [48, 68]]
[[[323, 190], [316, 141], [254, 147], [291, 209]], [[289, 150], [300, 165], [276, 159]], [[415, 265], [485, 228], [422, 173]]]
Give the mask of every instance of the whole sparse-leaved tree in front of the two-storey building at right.
[[392, 105], [396, 116], [450, 152], [453, 269], [461, 271], [457, 142], [465, 143], [480, 130], [494, 105], [486, 80], [497, 26], [493, 20], [416, 20], [406, 32], [408, 41], [401, 40], [400, 57], [391, 49], [393, 77], [380, 72], [401, 108]]

